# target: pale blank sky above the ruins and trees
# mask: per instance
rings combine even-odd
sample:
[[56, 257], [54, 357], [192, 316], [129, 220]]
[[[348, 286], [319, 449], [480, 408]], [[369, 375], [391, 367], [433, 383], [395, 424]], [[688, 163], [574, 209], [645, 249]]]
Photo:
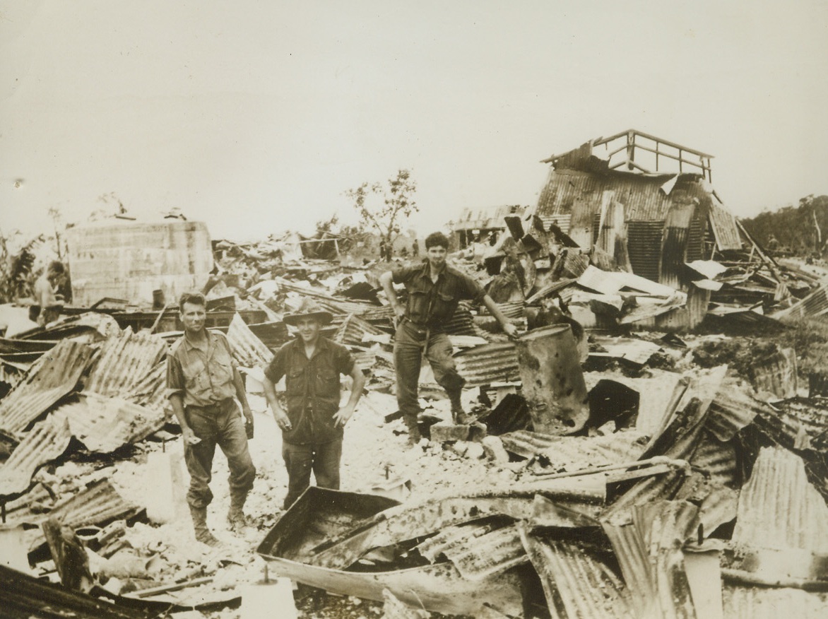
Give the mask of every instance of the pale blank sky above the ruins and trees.
[[822, 0], [0, 0], [0, 229], [114, 192], [263, 239], [407, 167], [427, 232], [627, 128], [715, 155], [750, 216], [828, 193], [826, 74]]

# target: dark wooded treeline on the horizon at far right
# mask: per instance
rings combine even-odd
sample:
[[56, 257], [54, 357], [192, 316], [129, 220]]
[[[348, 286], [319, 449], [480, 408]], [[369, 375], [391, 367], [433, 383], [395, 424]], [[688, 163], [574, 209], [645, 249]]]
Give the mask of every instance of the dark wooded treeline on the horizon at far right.
[[741, 222], [773, 254], [828, 258], [828, 196], [806, 196], [798, 206]]

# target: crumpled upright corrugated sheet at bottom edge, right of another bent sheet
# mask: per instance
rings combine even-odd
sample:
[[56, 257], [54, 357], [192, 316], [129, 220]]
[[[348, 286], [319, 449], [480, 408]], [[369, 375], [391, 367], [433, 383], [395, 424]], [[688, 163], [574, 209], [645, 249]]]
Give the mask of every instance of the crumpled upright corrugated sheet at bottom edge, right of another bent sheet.
[[656, 501], [633, 509], [633, 524], [604, 524], [636, 617], [696, 619], [681, 547], [696, 531], [698, 508]]

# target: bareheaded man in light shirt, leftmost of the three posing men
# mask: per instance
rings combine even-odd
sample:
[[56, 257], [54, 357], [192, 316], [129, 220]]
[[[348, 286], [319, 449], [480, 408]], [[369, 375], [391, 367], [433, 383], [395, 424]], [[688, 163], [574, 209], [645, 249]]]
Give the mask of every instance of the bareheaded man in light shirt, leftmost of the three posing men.
[[[167, 397], [181, 424], [184, 459], [190, 472], [187, 503], [193, 518], [195, 539], [215, 546], [219, 540], [207, 526], [207, 505], [213, 501], [209, 489], [213, 455], [218, 445], [230, 469], [230, 508], [227, 520], [231, 530], [246, 524], [244, 501], [253, 488], [256, 467], [250, 458], [248, 438], [253, 437], [253, 412], [244, 383], [233, 363], [227, 336], [205, 327], [205, 297], [184, 293], [178, 304], [184, 336], [172, 345], [167, 355]], [[242, 404], [242, 416], [233, 397]]]

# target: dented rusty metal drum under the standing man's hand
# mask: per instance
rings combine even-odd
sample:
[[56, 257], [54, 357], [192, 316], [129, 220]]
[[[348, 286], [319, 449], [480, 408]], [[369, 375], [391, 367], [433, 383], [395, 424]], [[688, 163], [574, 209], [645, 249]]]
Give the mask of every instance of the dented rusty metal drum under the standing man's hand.
[[535, 432], [568, 434], [590, 416], [584, 373], [570, 326], [544, 326], [517, 339], [523, 397]]

